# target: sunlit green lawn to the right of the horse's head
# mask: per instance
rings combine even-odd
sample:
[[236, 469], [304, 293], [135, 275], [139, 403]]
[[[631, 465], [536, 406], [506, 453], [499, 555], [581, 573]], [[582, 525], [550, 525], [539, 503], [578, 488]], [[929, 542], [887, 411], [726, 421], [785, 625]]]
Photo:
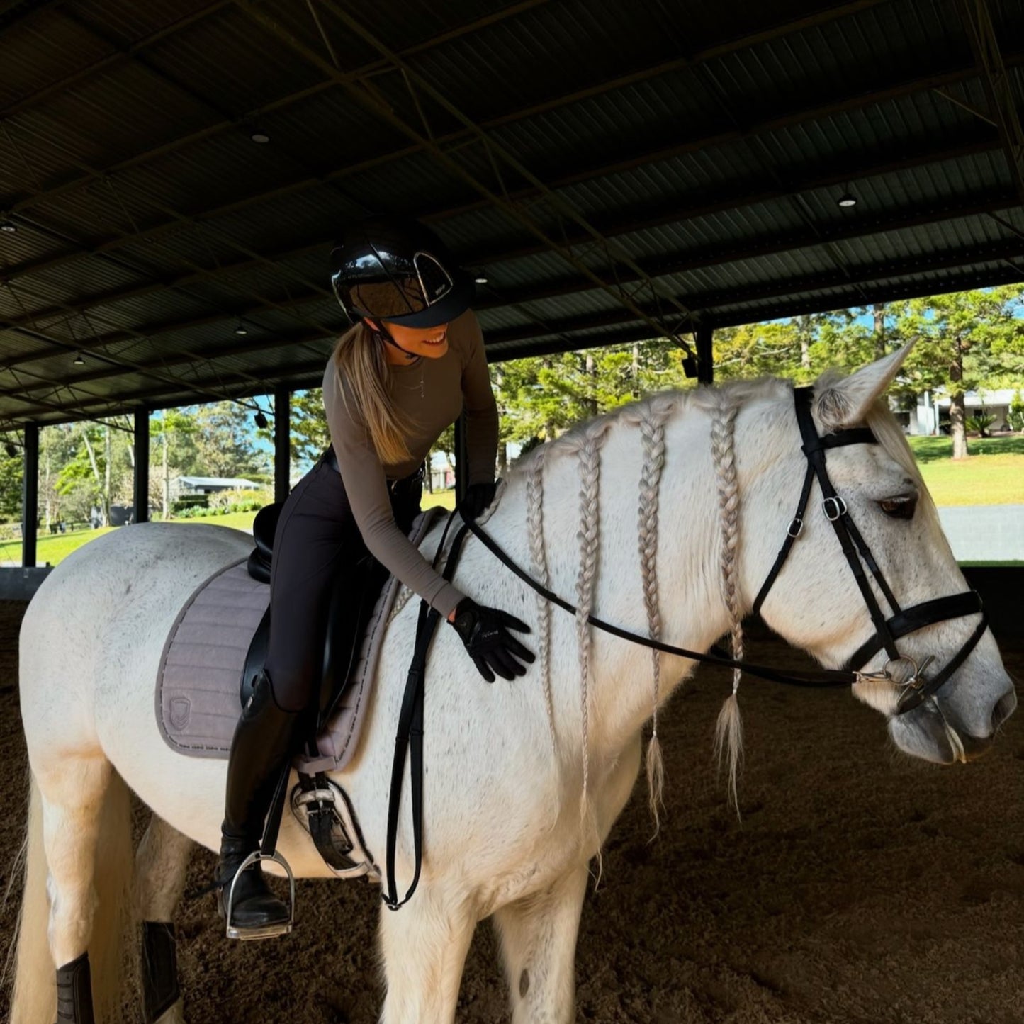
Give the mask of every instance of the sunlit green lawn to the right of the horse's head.
[[1024, 436], [971, 438], [957, 462], [948, 437], [911, 437], [910, 447], [936, 505], [1024, 504]]

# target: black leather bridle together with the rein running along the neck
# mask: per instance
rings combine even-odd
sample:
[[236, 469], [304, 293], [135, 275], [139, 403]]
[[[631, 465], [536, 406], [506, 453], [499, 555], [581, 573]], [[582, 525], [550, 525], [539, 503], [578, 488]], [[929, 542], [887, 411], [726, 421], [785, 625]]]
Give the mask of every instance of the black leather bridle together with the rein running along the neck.
[[[644, 647], [652, 648], [653, 650], [662, 651], [666, 654], [676, 654], [706, 665], [740, 669], [751, 675], [760, 676], [762, 679], [768, 679], [773, 682], [790, 683], [797, 686], [845, 686], [861, 682], [890, 682], [902, 689], [894, 714], [903, 715], [911, 709], [916, 708], [929, 697], [934, 697], [942, 684], [964, 664], [971, 651], [974, 650], [982, 634], [988, 627], [988, 621], [982, 609], [981, 598], [973, 590], [963, 594], [954, 594], [949, 597], [939, 597], [932, 601], [925, 601], [910, 608], [900, 608], [889, 585], [886, 583], [885, 577], [882, 574], [882, 570], [874, 561], [870, 549], [850, 518], [846, 502], [836, 493], [836, 488], [828, 478], [825, 466], [825, 453], [829, 449], [843, 447], [847, 444], [876, 444], [878, 443], [878, 438], [867, 427], [841, 430], [836, 433], [825, 434], [823, 437], [820, 436], [811, 416], [812, 398], [813, 393], [811, 388], [794, 389], [797, 422], [800, 426], [801, 438], [803, 440], [802, 451], [807, 457], [807, 472], [804, 475], [804, 483], [801, 487], [796, 515], [794, 515], [790, 522], [785, 540], [782, 542], [782, 547], [779, 549], [775, 562], [764, 584], [761, 586], [761, 590], [758, 592], [753, 610], [755, 612], [760, 611], [761, 605], [764, 603], [768, 592], [778, 578], [794, 543], [803, 534], [807, 503], [810, 500], [814, 480], [817, 478], [821, 488], [822, 510], [836, 530], [843, 554], [846, 555], [847, 562], [857, 582], [857, 587], [867, 606], [871, 623], [874, 625], [874, 635], [854, 651], [847, 660], [846, 668], [837, 670], [822, 669], [814, 673], [780, 673], [765, 666], [735, 660], [727, 657], [724, 653], [702, 653], [700, 651], [687, 650], [685, 647], [676, 647], [672, 644], [663, 643], [659, 640], [653, 640], [639, 633], [633, 633], [622, 627], [613, 626], [611, 623], [606, 623], [596, 615], [588, 615], [587, 621], [595, 629], [599, 629], [604, 633], [620, 637], [623, 640], [629, 640]], [[522, 580], [523, 583], [527, 584], [552, 604], [557, 604], [560, 608], [564, 608], [572, 614], [577, 613], [574, 605], [543, 586], [521, 568], [475, 520], [467, 519], [466, 525], [483, 546]], [[871, 590], [870, 583], [868, 582], [865, 566], [874, 579], [879, 590], [882, 592], [892, 611], [892, 615], [889, 618], [886, 618], [882, 608], [879, 606], [874, 592]], [[931, 656], [927, 657], [919, 666], [912, 658], [900, 654], [896, 647], [896, 640], [925, 626], [932, 626], [947, 618], [958, 618], [964, 615], [979, 613], [981, 614], [981, 621], [978, 623], [975, 631], [961, 649], [949, 659], [942, 671], [935, 676], [927, 679], [924, 676], [925, 669], [932, 662]], [[889, 659], [882, 671], [861, 672], [860, 667], [865, 665], [883, 649], [889, 655]], [[718, 648], [716, 647], [712, 648], [712, 651], [717, 650]], [[892, 672], [892, 668], [897, 664], [908, 666], [910, 670], [909, 676], [906, 676], [904, 673], [901, 677], [897, 678]]]

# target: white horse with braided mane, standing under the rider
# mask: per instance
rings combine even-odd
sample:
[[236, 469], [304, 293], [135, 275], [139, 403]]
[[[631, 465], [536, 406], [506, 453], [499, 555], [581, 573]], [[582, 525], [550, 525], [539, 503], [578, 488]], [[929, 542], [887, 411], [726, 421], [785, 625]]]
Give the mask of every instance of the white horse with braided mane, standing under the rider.
[[[902, 356], [819, 380], [813, 408], [821, 432], [866, 422], [879, 438], [830, 452], [828, 471], [893, 591], [909, 605], [967, 588], [909, 449], [877, 401]], [[583, 611], [707, 650], [750, 609], [804, 468], [786, 382], [655, 395], [524, 460], [509, 475], [487, 530]], [[914, 498], [911, 521], [891, 517], [897, 506], [905, 516]], [[731, 523], [724, 539], [723, 521]], [[162, 646], [189, 593], [251, 543], [221, 527], [133, 526], [76, 552], [29, 606], [20, 697], [32, 790], [13, 1024], [52, 1024], [54, 969], [86, 951], [97, 1020], [117, 1019], [126, 913], [171, 921], [190, 844], [217, 849], [226, 762], [169, 749], [158, 731], [154, 687]], [[380, 916], [381, 1020], [453, 1021], [474, 928], [494, 914], [512, 1020], [568, 1022], [589, 861], [633, 788], [644, 723], [694, 663], [673, 655], [652, 663], [648, 650], [551, 609], [472, 538], [457, 582], [481, 604], [529, 623], [542, 657], [525, 678], [488, 686], [455, 632], [440, 627], [427, 675], [423, 877], [406, 907]], [[417, 603], [390, 626], [360, 748], [336, 776], [377, 856], [385, 848]], [[841, 665], [872, 633], [817, 502], [762, 613], [824, 666]], [[977, 622], [930, 626], [901, 640], [900, 649], [945, 664]], [[853, 690], [889, 717], [897, 746], [946, 763], [982, 748], [1016, 703], [990, 633], [942, 688], [941, 714], [929, 702], [894, 716], [899, 690], [890, 682]], [[128, 786], [155, 812], [134, 869]], [[296, 876], [330, 876], [288, 817], [279, 849]], [[412, 862], [407, 805], [400, 884], [411, 879]], [[212, 897], [210, 927], [221, 927]], [[161, 1024], [180, 1024], [183, 1014], [178, 1001]]]

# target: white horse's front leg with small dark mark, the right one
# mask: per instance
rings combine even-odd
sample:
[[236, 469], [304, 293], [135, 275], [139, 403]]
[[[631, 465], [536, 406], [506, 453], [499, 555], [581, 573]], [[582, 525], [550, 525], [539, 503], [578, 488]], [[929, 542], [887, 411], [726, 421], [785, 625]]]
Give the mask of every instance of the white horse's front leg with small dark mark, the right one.
[[566, 1024], [575, 1019], [575, 943], [587, 878], [585, 862], [550, 889], [496, 912], [512, 1024]]

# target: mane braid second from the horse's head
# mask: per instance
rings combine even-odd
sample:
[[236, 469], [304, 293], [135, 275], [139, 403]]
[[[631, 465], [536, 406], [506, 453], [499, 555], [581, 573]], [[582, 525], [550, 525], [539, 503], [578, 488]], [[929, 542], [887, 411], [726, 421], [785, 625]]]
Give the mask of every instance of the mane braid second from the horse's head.
[[[657, 517], [658, 487], [665, 467], [665, 421], [670, 408], [664, 403], [655, 409], [652, 402], [640, 408], [640, 434], [643, 439], [643, 466], [640, 470], [640, 500], [637, 508], [637, 546], [640, 554], [640, 575], [643, 581], [643, 603], [647, 612], [647, 635], [652, 640], [662, 638], [662, 612], [657, 592]], [[662, 745], [657, 738], [657, 701], [662, 683], [662, 658], [656, 650], [650, 652], [653, 680], [652, 719], [650, 741], [647, 744], [647, 795], [654, 834], [660, 827], [658, 810], [665, 783]]]

